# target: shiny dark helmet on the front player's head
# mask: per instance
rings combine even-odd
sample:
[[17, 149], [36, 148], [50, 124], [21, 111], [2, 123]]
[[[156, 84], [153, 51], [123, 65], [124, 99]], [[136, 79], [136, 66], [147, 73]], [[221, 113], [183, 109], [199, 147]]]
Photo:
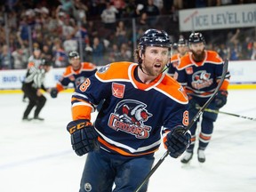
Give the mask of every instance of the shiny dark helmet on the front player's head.
[[161, 46], [171, 48], [172, 43], [164, 30], [148, 29], [139, 40], [139, 45]]

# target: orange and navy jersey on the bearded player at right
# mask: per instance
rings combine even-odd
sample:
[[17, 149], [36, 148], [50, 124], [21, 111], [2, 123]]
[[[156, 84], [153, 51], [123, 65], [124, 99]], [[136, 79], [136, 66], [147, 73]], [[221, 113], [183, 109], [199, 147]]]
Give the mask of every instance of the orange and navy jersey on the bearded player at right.
[[[208, 98], [216, 89], [223, 71], [223, 60], [217, 52], [204, 51], [205, 58], [196, 62], [192, 58], [192, 52], [180, 59], [180, 65], [174, 75], [174, 78], [185, 88], [188, 95], [199, 98]], [[228, 89], [230, 74], [226, 74], [220, 90]]]

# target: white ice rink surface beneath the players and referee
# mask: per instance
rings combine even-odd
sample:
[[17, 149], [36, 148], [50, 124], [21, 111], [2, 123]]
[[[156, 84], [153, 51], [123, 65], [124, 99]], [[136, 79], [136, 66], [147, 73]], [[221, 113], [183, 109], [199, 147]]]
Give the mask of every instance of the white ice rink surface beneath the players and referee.
[[[44, 123], [22, 122], [21, 94], [0, 94], [0, 191], [78, 192], [86, 156], [76, 156], [66, 125], [70, 93], [47, 96]], [[230, 90], [222, 111], [256, 117], [256, 90]], [[32, 115], [32, 114], [31, 114]], [[219, 115], [206, 162], [188, 166], [167, 156], [151, 176], [148, 192], [255, 192], [256, 122]], [[156, 161], [164, 148], [156, 152]], [[196, 155], [196, 154], [195, 154]]]

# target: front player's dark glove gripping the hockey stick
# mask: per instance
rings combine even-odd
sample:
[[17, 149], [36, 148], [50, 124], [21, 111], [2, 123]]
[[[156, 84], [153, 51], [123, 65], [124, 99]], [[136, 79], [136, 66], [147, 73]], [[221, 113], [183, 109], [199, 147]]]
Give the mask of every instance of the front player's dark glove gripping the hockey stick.
[[177, 158], [188, 148], [190, 139], [190, 132], [186, 132], [185, 127], [176, 126], [166, 135], [164, 145], [170, 152], [170, 156]]

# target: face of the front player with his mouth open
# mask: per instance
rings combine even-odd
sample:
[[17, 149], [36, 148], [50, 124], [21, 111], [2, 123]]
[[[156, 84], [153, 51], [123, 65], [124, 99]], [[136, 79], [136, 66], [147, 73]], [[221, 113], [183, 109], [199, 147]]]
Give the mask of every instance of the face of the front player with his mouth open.
[[170, 60], [170, 54], [167, 47], [148, 46], [142, 60], [143, 70], [149, 76], [158, 76]]

